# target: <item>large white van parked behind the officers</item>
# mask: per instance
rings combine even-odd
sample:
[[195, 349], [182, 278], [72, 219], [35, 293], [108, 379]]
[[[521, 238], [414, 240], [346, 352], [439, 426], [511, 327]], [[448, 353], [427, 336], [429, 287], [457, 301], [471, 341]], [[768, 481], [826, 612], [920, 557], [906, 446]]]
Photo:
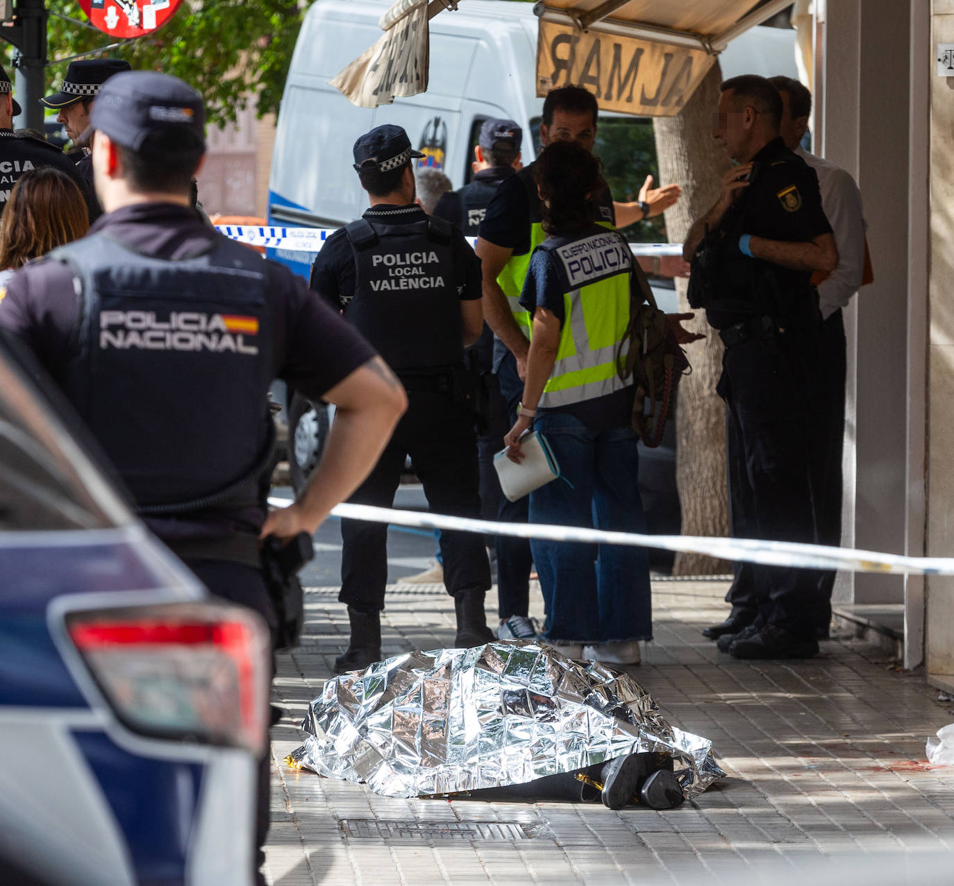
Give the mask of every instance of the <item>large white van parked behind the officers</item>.
[[[357, 108], [328, 85], [381, 36], [378, 20], [391, 3], [316, 0], [305, 14], [281, 99], [269, 224], [337, 228], [360, 216], [367, 196], [352, 169], [351, 149], [359, 135], [382, 123], [403, 126], [427, 155], [421, 164], [440, 169], [455, 188], [470, 179], [473, 146], [487, 117], [516, 120], [524, 130], [524, 162], [536, 155], [543, 99], [534, 89], [537, 19], [531, 3], [466, 0], [459, 10], [431, 19], [426, 93]], [[748, 31], [720, 56], [723, 75], [797, 76], [794, 47], [794, 31]], [[651, 122], [601, 114], [599, 136], [596, 153], [613, 196], [634, 199], [643, 178], [655, 171]], [[305, 278], [315, 258], [280, 249], [269, 256]]]

